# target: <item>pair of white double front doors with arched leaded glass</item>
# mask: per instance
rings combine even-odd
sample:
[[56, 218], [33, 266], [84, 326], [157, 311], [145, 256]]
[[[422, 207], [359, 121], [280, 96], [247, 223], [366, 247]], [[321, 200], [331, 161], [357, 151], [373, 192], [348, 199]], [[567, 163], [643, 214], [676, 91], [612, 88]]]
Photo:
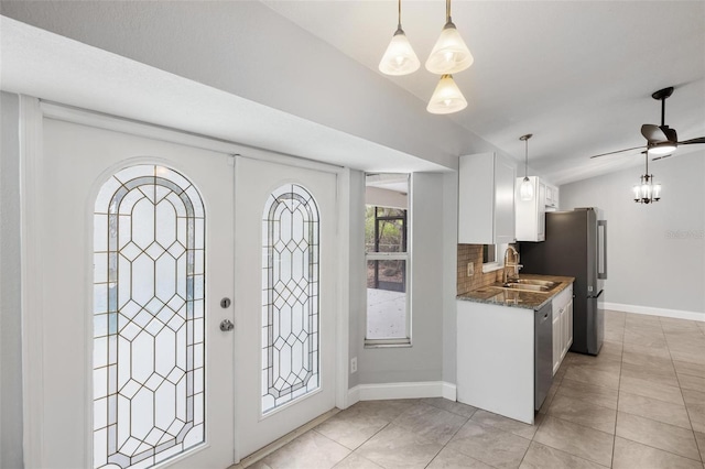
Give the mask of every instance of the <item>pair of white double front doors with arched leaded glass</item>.
[[62, 119], [41, 135], [32, 466], [221, 469], [335, 406], [336, 173]]

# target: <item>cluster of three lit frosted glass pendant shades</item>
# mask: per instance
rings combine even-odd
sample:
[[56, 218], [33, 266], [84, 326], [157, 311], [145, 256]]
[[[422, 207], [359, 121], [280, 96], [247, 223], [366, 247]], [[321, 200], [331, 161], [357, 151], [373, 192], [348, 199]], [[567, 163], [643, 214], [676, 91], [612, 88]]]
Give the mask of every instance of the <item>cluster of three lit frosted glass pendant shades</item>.
[[[398, 0], [398, 6], [397, 32], [379, 63], [379, 70], [392, 76], [409, 75], [419, 69], [421, 65], [406, 34], [401, 29], [401, 0]], [[426, 106], [426, 110], [434, 114], [449, 114], [467, 108], [467, 100], [453, 80], [452, 74], [468, 68], [475, 61], [451, 20], [451, 0], [445, 1], [445, 26], [426, 61], [426, 69], [441, 75]]]

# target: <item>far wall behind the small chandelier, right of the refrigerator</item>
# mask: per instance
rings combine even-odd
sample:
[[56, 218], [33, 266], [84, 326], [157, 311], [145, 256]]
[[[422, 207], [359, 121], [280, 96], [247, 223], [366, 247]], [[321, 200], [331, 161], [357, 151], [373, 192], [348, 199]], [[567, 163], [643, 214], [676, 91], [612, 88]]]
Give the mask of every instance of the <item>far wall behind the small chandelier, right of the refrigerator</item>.
[[663, 185], [658, 203], [631, 198], [643, 172], [641, 165], [563, 185], [561, 209], [605, 210], [608, 304], [690, 312], [705, 320], [705, 150], [649, 164]]

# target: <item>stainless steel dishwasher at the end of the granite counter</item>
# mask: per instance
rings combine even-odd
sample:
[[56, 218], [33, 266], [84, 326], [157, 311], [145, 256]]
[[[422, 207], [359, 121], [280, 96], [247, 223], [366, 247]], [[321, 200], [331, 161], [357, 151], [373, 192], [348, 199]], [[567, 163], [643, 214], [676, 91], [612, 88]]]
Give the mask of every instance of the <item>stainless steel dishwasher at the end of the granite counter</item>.
[[534, 312], [533, 363], [533, 401], [534, 410], [538, 411], [553, 383], [553, 312], [551, 302]]

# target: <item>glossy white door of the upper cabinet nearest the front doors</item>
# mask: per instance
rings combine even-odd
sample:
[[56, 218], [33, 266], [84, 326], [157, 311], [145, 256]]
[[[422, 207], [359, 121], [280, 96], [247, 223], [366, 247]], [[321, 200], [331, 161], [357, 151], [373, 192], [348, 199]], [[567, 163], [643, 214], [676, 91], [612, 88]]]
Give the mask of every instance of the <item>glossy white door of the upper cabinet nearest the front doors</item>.
[[514, 242], [514, 184], [517, 168], [513, 162], [496, 155], [495, 161], [495, 244]]

